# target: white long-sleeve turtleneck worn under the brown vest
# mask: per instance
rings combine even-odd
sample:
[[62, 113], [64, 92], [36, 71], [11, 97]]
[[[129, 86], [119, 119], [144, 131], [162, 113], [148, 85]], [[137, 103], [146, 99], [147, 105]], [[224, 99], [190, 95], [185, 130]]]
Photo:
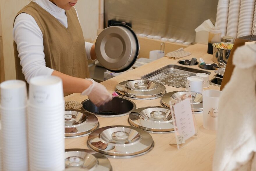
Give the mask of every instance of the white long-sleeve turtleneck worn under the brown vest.
[[[49, 0], [33, 1], [53, 15], [67, 28], [65, 10], [59, 8]], [[46, 67], [45, 64], [42, 31], [31, 15], [21, 13], [16, 17], [13, 27], [13, 39], [17, 44], [22, 73], [28, 83], [32, 77], [52, 74], [54, 70]], [[85, 42], [88, 59], [91, 59], [90, 50], [92, 46], [93, 43]]]

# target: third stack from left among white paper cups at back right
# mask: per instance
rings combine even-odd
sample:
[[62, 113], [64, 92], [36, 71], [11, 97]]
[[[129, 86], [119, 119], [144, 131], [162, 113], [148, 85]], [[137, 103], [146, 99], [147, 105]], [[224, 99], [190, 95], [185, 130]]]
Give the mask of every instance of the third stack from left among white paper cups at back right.
[[255, 0], [241, 0], [237, 37], [251, 35]]

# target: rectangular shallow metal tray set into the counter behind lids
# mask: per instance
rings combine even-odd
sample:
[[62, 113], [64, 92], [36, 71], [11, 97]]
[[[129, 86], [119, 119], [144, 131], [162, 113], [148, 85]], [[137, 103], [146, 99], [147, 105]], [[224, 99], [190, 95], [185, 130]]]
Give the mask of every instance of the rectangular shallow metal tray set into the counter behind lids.
[[195, 76], [196, 73], [211, 74], [211, 72], [188, 68], [178, 65], [167, 65], [163, 68], [143, 75], [141, 79], [156, 81], [165, 85], [170, 85], [177, 88], [186, 87], [187, 77]]

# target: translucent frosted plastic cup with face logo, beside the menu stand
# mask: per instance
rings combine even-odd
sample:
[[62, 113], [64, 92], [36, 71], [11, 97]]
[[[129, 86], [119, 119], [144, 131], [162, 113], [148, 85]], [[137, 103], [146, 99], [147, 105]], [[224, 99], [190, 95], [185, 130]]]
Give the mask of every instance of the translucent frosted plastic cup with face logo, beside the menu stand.
[[203, 127], [207, 130], [218, 128], [218, 102], [222, 91], [205, 90], [203, 95]]

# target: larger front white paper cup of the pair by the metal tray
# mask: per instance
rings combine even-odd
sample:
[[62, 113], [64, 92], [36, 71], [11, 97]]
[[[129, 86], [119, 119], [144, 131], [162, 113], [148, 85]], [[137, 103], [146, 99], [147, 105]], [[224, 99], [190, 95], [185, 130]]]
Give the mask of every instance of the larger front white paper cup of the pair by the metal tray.
[[188, 77], [185, 90], [201, 93], [203, 91], [203, 82], [204, 80], [201, 77]]

